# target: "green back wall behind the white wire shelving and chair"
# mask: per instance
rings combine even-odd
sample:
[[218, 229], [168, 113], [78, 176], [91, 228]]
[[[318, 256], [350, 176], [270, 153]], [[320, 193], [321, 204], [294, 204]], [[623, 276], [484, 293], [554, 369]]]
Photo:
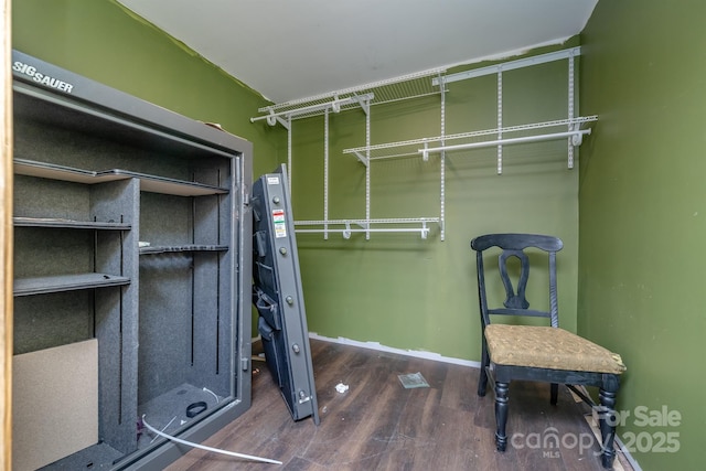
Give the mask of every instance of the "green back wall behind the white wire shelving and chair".
[[[567, 83], [567, 60], [504, 73], [504, 125], [566, 118]], [[495, 128], [496, 89], [495, 75], [450, 83], [446, 132]], [[439, 96], [373, 106], [372, 143], [439, 136], [440, 113]], [[323, 129], [322, 117], [293, 122], [297, 220], [323, 218]], [[342, 153], [365, 144], [363, 111], [331, 115], [329, 144], [329, 218], [364, 218], [365, 167]], [[565, 240], [559, 306], [563, 325], [575, 330], [578, 171], [567, 168], [566, 140], [505, 147], [502, 175], [495, 170], [496, 152], [490, 148], [447, 153], [443, 242], [438, 228], [427, 240], [413, 234], [373, 233], [370, 240], [364, 234], [347, 240], [339, 234], [328, 240], [322, 234], [300, 234], [310, 331], [478, 361], [475, 258], [469, 243], [490, 232], [545, 233]], [[428, 162], [409, 157], [371, 165], [373, 218], [439, 215], [438, 154]], [[535, 302], [546, 304], [546, 298], [541, 291]]]

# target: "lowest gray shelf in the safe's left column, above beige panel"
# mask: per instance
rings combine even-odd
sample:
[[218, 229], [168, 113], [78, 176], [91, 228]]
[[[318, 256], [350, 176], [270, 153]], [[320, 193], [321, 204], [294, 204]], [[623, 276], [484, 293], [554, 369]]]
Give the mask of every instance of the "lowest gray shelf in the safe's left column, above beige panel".
[[45, 295], [78, 289], [129, 285], [130, 279], [106, 274], [61, 275], [14, 280], [14, 296]]

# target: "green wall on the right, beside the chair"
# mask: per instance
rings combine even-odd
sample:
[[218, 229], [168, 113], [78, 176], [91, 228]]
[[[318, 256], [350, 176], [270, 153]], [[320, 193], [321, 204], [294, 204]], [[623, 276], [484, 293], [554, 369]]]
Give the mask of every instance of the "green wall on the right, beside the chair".
[[[704, 18], [700, 1], [603, 0], [581, 34], [581, 105], [600, 118], [581, 149], [578, 328], [628, 365], [619, 436], [644, 470], [705, 457]], [[680, 426], [635, 420], [663, 406]]]

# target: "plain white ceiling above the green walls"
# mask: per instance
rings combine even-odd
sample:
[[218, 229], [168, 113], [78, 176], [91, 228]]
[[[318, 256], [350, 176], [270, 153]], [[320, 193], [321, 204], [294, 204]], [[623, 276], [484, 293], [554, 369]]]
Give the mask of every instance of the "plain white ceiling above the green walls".
[[118, 0], [274, 103], [511, 56], [598, 0]]

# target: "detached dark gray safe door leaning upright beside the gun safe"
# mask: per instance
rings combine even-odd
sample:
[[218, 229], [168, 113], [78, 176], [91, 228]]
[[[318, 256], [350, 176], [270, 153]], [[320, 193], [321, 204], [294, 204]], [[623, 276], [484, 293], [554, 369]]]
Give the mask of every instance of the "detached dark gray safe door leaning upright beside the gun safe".
[[295, 420], [319, 424], [287, 169], [253, 185], [253, 303], [265, 360]]

